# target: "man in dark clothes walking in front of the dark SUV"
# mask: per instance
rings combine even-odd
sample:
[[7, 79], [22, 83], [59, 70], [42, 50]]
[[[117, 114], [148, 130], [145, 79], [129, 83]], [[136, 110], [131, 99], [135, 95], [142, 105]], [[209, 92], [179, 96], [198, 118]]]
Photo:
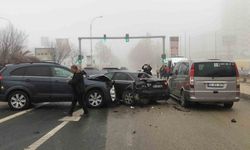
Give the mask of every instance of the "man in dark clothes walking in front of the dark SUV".
[[74, 75], [72, 79], [69, 81], [69, 85], [72, 86], [74, 97], [72, 99], [69, 116], [72, 116], [77, 102], [79, 103], [81, 108], [83, 108], [84, 114], [88, 114], [86, 102], [83, 99], [83, 95], [84, 95], [83, 72], [79, 70], [76, 65], [71, 66], [71, 71], [74, 73]]

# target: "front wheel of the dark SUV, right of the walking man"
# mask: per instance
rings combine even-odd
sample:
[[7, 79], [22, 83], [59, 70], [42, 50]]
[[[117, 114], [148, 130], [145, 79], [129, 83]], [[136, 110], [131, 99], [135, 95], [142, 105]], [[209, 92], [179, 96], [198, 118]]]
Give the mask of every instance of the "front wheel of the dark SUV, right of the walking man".
[[86, 96], [88, 107], [98, 108], [104, 103], [103, 93], [100, 90], [91, 90]]

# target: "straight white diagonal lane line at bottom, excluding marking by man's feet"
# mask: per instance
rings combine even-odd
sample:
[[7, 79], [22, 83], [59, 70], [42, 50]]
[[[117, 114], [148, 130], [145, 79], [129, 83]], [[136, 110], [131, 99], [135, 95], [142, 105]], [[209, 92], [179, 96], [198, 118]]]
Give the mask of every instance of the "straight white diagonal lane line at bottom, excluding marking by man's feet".
[[51, 138], [53, 135], [55, 135], [60, 129], [62, 129], [66, 124], [68, 124], [68, 121], [64, 121], [61, 124], [59, 124], [57, 127], [49, 131], [46, 135], [41, 137], [39, 140], [25, 148], [24, 150], [36, 150], [38, 147], [40, 147], [44, 142], [46, 142], [49, 138]]

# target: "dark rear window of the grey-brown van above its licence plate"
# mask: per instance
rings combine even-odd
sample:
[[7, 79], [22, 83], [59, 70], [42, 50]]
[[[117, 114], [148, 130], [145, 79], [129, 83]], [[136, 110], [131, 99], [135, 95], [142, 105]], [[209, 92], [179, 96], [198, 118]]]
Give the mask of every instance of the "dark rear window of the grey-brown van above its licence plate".
[[202, 62], [194, 64], [196, 77], [235, 77], [236, 67], [232, 62]]

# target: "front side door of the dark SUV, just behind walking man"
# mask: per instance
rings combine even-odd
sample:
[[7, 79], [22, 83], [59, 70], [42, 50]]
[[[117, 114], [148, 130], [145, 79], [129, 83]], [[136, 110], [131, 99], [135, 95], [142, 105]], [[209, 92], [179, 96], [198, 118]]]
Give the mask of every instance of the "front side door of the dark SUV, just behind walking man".
[[52, 91], [55, 101], [69, 101], [72, 98], [72, 88], [68, 84], [73, 73], [67, 68], [53, 66], [52, 68]]

